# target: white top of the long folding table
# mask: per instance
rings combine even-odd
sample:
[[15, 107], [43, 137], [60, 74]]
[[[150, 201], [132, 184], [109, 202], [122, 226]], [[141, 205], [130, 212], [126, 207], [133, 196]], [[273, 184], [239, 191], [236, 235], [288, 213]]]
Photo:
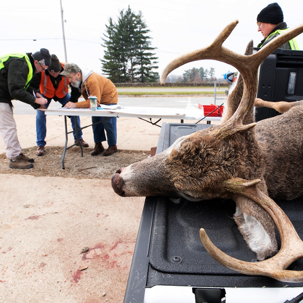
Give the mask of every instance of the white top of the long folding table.
[[[121, 109], [97, 109], [92, 111], [88, 108], [58, 108], [58, 109], [39, 109], [46, 115], [64, 116], [99, 116], [99, 117], [134, 117], [134, 118], [161, 118], [161, 119], [182, 119], [200, 120], [204, 117], [201, 109], [186, 111], [183, 108], [166, 107], [125, 107]], [[221, 117], [207, 117], [207, 121], [221, 121]]]

